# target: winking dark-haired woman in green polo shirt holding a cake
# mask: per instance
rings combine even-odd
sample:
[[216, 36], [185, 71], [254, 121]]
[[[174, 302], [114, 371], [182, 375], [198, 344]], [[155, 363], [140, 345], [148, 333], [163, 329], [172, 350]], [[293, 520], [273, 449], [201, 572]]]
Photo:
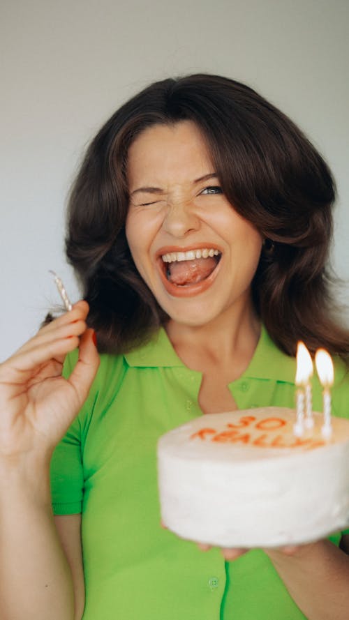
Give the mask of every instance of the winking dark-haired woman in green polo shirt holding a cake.
[[334, 413], [348, 415], [333, 201], [313, 146], [238, 82], [164, 80], [107, 121], [70, 195], [85, 301], [0, 368], [3, 617], [346, 618], [349, 531], [203, 554], [161, 529], [156, 489], [170, 428], [292, 407], [299, 339], [336, 356]]

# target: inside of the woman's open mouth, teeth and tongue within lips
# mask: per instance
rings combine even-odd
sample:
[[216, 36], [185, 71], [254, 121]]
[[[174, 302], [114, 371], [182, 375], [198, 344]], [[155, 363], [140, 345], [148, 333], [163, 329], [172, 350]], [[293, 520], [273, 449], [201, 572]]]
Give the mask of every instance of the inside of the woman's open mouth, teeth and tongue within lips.
[[168, 252], [161, 256], [163, 273], [172, 285], [191, 287], [209, 278], [221, 259], [216, 248]]

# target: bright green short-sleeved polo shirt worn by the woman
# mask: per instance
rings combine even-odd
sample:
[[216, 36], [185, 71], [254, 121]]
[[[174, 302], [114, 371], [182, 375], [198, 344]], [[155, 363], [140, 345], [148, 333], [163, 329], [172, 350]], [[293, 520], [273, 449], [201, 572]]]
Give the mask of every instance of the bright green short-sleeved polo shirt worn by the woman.
[[[66, 376], [75, 360], [68, 356]], [[263, 329], [250, 365], [229, 389], [239, 409], [293, 407], [294, 377], [295, 360]], [[304, 619], [261, 550], [225, 563], [217, 549], [200, 552], [160, 526], [156, 444], [202, 415], [200, 381], [163, 329], [129, 354], [102, 355], [89, 398], [54, 452], [54, 513], [82, 512], [83, 620]], [[334, 414], [348, 416], [340, 362], [332, 394]], [[320, 411], [316, 379], [313, 402]]]

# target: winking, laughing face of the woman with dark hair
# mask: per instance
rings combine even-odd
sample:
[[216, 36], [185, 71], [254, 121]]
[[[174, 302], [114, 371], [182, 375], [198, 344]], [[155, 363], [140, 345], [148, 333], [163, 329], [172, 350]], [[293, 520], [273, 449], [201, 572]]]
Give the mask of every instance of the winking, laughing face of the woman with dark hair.
[[152, 126], [128, 151], [126, 237], [133, 260], [163, 310], [192, 326], [250, 308], [262, 246], [215, 172], [192, 121]]

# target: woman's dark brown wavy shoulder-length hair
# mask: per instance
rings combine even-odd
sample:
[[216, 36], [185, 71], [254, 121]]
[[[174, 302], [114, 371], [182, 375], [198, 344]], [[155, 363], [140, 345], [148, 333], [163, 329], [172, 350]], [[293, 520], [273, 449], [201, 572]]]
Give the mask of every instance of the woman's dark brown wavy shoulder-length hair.
[[101, 351], [125, 352], [168, 320], [140, 277], [125, 234], [128, 148], [144, 129], [191, 120], [205, 137], [225, 196], [267, 240], [253, 302], [276, 345], [348, 356], [334, 319], [329, 272], [334, 179], [285, 114], [217, 75], [155, 82], [128, 100], [91, 142], [68, 202], [66, 254], [89, 302]]

